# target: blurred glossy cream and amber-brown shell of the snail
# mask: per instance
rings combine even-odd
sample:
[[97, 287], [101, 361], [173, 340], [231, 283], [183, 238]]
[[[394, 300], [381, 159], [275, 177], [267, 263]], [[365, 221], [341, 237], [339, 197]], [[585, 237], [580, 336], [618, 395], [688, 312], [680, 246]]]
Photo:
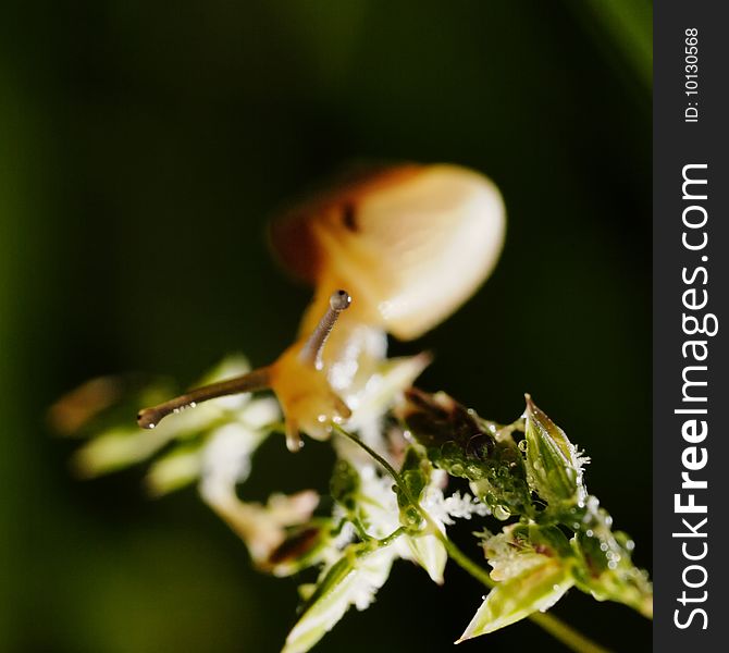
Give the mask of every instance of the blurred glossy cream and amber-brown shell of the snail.
[[407, 164], [300, 205], [273, 223], [271, 241], [284, 267], [323, 295], [346, 287], [356, 297], [348, 320], [412, 340], [489, 276], [505, 227], [501, 194], [484, 175]]

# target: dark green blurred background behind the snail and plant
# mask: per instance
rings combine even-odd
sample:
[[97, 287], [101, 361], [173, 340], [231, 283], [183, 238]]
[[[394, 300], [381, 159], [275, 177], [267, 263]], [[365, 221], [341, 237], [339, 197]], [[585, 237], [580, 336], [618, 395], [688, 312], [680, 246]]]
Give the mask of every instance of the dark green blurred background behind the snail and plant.
[[[651, 4], [645, 0], [27, 2], [0, 21], [0, 650], [277, 651], [295, 582], [187, 490], [79, 482], [45, 411], [101, 373], [194, 380], [293, 337], [309, 291], [264, 224], [358, 159], [452, 161], [502, 188], [490, 282], [418, 343], [421, 386], [511, 420], [529, 391], [593, 458], [588, 486], [651, 567]], [[270, 442], [246, 497], [325, 486]], [[472, 525], [456, 530], [477, 556]], [[408, 563], [320, 651], [449, 651], [483, 593]], [[651, 624], [572, 591], [603, 644]], [[386, 633], [386, 641], [383, 639]], [[561, 646], [531, 624], [461, 644]], [[459, 649], [460, 650], [460, 649]]]

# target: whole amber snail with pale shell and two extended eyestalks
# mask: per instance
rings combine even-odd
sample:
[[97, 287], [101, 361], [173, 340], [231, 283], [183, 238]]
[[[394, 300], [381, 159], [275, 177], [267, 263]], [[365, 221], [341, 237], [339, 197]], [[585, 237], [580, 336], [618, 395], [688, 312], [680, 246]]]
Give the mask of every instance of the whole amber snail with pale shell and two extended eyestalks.
[[386, 168], [295, 207], [273, 222], [271, 243], [314, 287], [296, 342], [267, 367], [145, 408], [139, 426], [270, 389], [292, 452], [301, 432], [325, 440], [385, 359], [387, 333], [415, 340], [453, 313], [491, 273], [505, 226], [496, 186], [452, 164]]

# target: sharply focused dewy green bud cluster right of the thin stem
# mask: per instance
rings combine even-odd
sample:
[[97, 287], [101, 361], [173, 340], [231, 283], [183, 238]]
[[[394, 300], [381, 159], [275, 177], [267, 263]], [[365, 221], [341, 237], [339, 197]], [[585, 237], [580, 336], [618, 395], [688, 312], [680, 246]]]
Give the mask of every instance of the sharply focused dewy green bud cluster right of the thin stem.
[[444, 393], [412, 389], [407, 397], [403, 418], [433, 465], [467, 478], [498, 519], [520, 516], [482, 537], [496, 584], [459, 641], [544, 612], [572, 586], [653, 616], [653, 588], [632, 564], [632, 540], [613, 531], [613, 518], [588, 494], [588, 458], [529, 395], [522, 418], [507, 427]]

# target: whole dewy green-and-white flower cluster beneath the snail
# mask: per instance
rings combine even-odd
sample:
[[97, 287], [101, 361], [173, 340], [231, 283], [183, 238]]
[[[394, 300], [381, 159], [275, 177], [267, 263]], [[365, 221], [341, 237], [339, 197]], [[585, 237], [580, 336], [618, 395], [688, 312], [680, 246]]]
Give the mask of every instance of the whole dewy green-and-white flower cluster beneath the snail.
[[[88, 436], [73, 460], [82, 476], [151, 459], [150, 494], [197, 483], [259, 569], [275, 576], [316, 570], [316, 582], [299, 587], [302, 606], [286, 653], [308, 651], [349, 607], [366, 609], [398, 559], [443, 583], [452, 557], [493, 588], [459, 641], [546, 611], [571, 587], [650, 616], [652, 589], [631, 563], [632, 541], [611, 530], [611, 518], [588, 494], [586, 459], [565, 433], [530, 397], [521, 418], [501, 426], [444, 393], [412, 389], [427, 362], [423, 356], [384, 361], [348, 430], [332, 424], [331, 502], [307, 489], [274, 493], [265, 504], [239, 497], [257, 448], [283, 430], [272, 397], [217, 398], [141, 431], [121, 421], [114, 405], [125, 393], [127, 406], [150, 404], [169, 389], [155, 382], [128, 393], [121, 380], [102, 379], [62, 399], [51, 416], [59, 430]], [[248, 369], [245, 358], [228, 357], [202, 382]], [[466, 479], [472, 494], [449, 492], [450, 477]], [[332, 508], [322, 513], [322, 505]], [[448, 539], [456, 519], [502, 527], [479, 535], [490, 577]]]

